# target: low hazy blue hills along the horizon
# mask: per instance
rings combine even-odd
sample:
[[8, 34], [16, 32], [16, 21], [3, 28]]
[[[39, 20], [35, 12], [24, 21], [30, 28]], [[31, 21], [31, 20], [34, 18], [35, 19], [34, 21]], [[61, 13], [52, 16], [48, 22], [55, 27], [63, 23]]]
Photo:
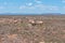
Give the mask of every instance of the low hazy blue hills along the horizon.
[[61, 13], [43, 13], [43, 14], [2, 13], [0, 15], [65, 15], [65, 14], [61, 14]]

